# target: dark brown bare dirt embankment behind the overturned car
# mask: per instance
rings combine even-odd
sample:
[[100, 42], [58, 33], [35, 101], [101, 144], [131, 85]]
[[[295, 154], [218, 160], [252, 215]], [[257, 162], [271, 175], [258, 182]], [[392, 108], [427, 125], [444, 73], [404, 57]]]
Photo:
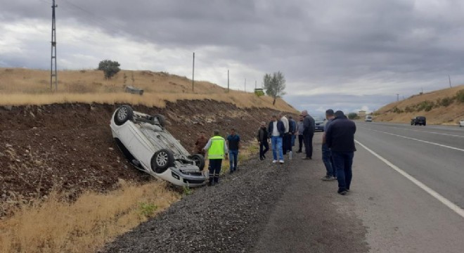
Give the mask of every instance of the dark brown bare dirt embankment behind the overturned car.
[[[124, 160], [112, 139], [109, 124], [116, 108], [81, 103], [0, 108], [0, 202], [46, 197], [53, 187], [74, 199], [83, 190], [115, 188], [118, 179], [150, 180]], [[135, 105], [134, 110], [165, 115], [167, 129], [188, 150], [200, 130], [225, 134], [233, 126], [250, 141], [259, 122], [276, 113], [212, 100], [181, 100], [165, 108]], [[6, 213], [0, 209], [0, 216]]]

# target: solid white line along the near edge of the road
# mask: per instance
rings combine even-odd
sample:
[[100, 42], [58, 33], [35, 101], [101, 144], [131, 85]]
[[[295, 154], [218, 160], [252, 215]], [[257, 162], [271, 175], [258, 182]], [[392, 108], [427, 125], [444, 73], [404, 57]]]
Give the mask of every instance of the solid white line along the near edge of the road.
[[378, 153], [375, 153], [373, 150], [370, 150], [370, 148], [366, 147], [365, 145], [363, 145], [363, 143], [360, 143], [359, 141], [357, 140], [354, 140], [356, 141], [356, 143], [358, 143], [359, 145], [361, 145], [361, 147], [363, 147], [364, 149], [368, 150], [371, 154], [373, 154], [375, 157], [377, 157], [378, 159], [380, 159], [382, 162], [385, 162], [385, 164], [387, 164], [389, 167], [391, 167], [392, 169], [394, 169], [395, 171], [397, 171], [399, 174], [401, 174], [402, 176], [404, 176], [406, 179], [409, 179], [409, 181], [413, 182], [416, 186], [419, 186], [419, 188], [425, 190], [426, 193], [432, 195], [432, 197], [434, 197], [435, 199], [437, 199], [439, 202], [442, 202], [443, 205], [446, 205], [446, 207], [448, 207], [449, 209], [453, 210], [454, 212], [456, 212], [456, 214], [458, 214], [459, 216], [463, 217], [464, 218], [464, 210], [460, 207], [458, 207], [458, 205], [455, 205], [453, 202], [449, 201], [446, 197], [443, 197], [442, 195], [440, 195], [439, 193], [437, 193], [436, 191], [432, 190], [431, 188], [429, 188], [428, 186], [425, 186], [425, 184], [423, 184], [422, 182], [418, 181], [417, 179], [415, 179], [413, 176], [411, 176], [410, 174], [407, 174], [404, 170], [402, 169], [399, 169], [399, 167], [397, 167], [396, 165], [392, 164], [391, 162], [389, 162], [388, 160], [386, 160], [384, 157], [378, 155]]

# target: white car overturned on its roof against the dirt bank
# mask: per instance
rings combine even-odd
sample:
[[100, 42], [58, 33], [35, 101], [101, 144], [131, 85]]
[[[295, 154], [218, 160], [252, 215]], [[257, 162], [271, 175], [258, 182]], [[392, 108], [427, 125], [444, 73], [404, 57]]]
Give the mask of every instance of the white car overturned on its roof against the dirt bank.
[[117, 108], [111, 117], [117, 146], [134, 167], [176, 186], [202, 186], [205, 158], [190, 155], [165, 129], [162, 115], [147, 115], [129, 105]]

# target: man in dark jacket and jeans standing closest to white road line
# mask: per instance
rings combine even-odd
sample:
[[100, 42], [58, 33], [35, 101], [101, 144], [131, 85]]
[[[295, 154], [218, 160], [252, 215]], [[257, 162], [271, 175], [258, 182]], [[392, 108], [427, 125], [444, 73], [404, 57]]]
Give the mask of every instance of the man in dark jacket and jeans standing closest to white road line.
[[347, 194], [352, 183], [352, 165], [356, 151], [354, 133], [356, 133], [356, 124], [347, 119], [342, 111], [335, 112], [335, 119], [327, 129], [326, 143], [332, 151], [333, 164], [337, 169], [337, 193], [341, 195]]

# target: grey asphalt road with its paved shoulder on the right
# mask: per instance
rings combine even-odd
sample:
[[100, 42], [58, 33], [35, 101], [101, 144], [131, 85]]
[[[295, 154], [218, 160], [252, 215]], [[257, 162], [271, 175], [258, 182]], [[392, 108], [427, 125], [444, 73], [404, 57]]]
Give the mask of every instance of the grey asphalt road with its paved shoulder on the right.
[[256, 252], [464, 252], [464, 129], [356, 125], [351, 192], [320, 180], [317, 134]]

